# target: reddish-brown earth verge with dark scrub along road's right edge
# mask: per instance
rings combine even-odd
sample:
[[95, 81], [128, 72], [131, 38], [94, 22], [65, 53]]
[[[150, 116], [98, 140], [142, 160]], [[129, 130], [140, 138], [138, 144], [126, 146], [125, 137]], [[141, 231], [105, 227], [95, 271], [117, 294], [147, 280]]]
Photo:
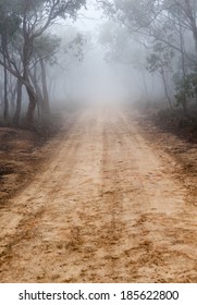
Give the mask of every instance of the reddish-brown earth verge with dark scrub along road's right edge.
[[169, 115], [163, 118], [162, 114], [163, 120], [159, 121], [160, 115], [138, 113], [136, 124], [151, 146], [173, 158], [176, 163], [174, 176], [188, 190], [187, 200], [197, 206], [197, 131], [195, 123], [189, 122], [189, 119], [183, 119], [183, 114], [180, 114], [180, 122], [185, 120], [186, 126], [180, 127], [177, 117], [170, 123]]

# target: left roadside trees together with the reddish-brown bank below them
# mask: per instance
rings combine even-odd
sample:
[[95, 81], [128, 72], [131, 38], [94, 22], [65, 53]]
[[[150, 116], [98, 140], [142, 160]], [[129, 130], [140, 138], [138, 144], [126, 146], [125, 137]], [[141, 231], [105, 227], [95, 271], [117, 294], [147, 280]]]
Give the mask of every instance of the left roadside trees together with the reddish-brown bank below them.
[[[75, 106], [65, 96], [58, 108], [58, 81], [69, 62], [74, 65], [83, 59], [86, 40], [71, 24], [84, 4], [0, 0], [1, 205], [44, 166], [50, 157], [44, 147], [62, 124], [70, 129], [64, 112], [71, 114]], [[60, 22], [64, 30], [59, 30]]]

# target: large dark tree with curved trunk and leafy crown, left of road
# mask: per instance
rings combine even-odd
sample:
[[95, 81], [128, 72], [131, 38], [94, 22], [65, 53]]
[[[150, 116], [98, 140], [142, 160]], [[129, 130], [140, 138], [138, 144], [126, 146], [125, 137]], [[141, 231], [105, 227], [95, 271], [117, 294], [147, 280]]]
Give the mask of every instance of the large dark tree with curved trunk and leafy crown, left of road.
[[[46, 33], [60, 19], [75, 20], [85, 3], [86, 0], [0, 0], [0, 65], [26, 87], [29, 125], [39, 99], [30, 82], [30, 70], [38, 63], [42, 71], [46, 62], [56, 63], [54, 53], [60, 48], [60, 39]], [[44, 87], [47, 91], [46, 82]]]

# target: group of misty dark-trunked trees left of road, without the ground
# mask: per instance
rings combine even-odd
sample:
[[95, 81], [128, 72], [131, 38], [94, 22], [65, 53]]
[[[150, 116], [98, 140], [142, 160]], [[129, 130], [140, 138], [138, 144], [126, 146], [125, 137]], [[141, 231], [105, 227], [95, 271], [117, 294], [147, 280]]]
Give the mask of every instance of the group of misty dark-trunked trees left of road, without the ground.
[[[76, 20], [85, 0], [0, 1], [0, 115], [4, 126], [50, 121], [57, 75], [51, 66], [82, 57], [79, 33], [56, 34], [56, 23]], [[64, 66], [62, 66], [63, 69]], [[23, 120], [24, 121], [24, 120]]]

